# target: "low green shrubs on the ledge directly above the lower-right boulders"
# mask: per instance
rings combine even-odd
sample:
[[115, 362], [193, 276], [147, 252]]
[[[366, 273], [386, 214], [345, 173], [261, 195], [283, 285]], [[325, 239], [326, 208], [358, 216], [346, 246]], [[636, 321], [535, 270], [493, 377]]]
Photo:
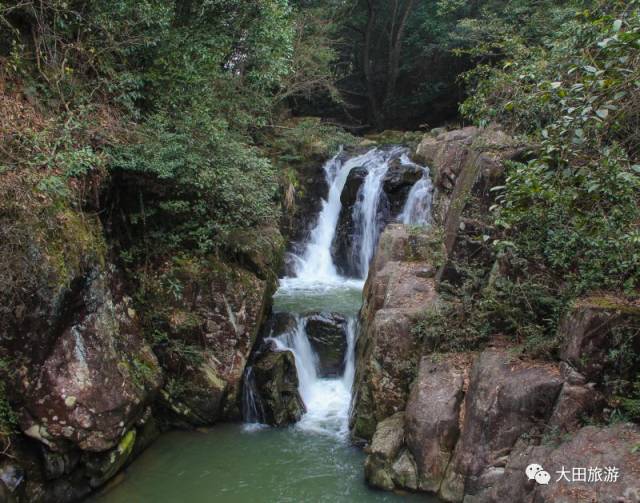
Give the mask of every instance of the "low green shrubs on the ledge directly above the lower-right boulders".
[[529, 356], [556, 356], [556, 327], [567, 300], [544, 276], [518, 271], [523, 261], [508, 256], [499, 261], [503, 266], [511, 262], [513, 276], [494, 272], [495, 277], [487, 278], [477, 265], [456, 265], [465, 278], [462, 284], [442, 283], [441, 301], [414, 326], [425, 351], [471, 351], [491, 337], [504, 336]]

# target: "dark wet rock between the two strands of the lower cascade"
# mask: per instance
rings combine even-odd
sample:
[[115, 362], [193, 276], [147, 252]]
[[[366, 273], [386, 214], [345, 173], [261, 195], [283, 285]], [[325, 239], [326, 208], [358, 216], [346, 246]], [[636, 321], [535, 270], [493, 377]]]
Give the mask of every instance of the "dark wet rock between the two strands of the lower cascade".
[[320, 377], [339, 377], [344, 373], [347, 323], [347, 319], [337, 313], [305, 315], [305, 331], [318, 355]]

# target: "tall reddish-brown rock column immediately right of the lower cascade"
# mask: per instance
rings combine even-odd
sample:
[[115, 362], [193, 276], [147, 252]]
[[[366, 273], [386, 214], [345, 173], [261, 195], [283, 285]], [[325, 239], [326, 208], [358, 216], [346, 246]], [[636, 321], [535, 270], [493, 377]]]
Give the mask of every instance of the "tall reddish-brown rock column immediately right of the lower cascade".
[[371, 438], [379, 421], [405, 407], [420, 354], [412, 327], [436, 299], [434, 279], [416, 258], [426, 260], [433, 248], [439, 250], [439, 242], [410, 236], [402, 225], [388, 226], [381, 236], [365, 285], [356, 347], [350, 424], [357, 438]]

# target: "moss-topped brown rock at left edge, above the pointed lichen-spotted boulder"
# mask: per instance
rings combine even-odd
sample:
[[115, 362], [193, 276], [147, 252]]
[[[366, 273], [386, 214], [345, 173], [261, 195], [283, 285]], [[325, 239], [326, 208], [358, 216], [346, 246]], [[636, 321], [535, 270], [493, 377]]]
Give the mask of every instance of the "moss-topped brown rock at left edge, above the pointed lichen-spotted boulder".
[[0, 358], [16, 363], [2, 376], [15, 401], [34, 385], [69, 326], [87, 275], [105, 269], [99, 220], [44, 195], [25, 200], [32, 193], [0, 177]]

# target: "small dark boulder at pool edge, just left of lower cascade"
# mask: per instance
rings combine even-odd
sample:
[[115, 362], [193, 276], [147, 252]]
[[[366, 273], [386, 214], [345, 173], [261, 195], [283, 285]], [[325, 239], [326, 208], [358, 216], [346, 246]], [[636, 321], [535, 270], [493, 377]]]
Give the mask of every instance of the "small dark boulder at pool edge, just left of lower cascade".
[[286, 426], [299, 421], [306, 409], [298, 393], [293, 353], [263, 353], [252, 368], [263, 420], [272, 426]]

